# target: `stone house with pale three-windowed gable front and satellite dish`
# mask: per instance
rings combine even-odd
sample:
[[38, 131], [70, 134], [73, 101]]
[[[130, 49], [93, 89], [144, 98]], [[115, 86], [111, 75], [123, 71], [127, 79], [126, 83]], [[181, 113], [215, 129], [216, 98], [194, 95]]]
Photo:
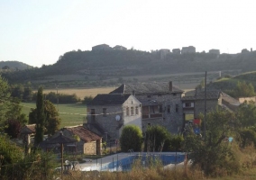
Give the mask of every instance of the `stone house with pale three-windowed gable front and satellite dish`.
[[87, 105], [87, 128], [104, 139], [119, 139], [123, 127], [142, 129], [142, 103], [133, 94], [97, 94]]

